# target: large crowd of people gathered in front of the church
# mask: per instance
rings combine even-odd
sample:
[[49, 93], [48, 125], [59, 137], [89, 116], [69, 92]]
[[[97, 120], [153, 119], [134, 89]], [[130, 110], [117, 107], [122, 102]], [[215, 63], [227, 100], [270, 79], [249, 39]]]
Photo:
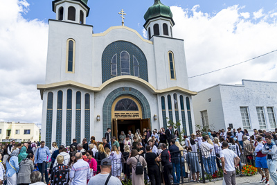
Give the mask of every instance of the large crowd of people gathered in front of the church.
[[89, 142], [73, 139], [70, 146], [53, 142], [52, 150], [44, 141], [12, 141], [0, 146], [0, 184], [121, 184], [127, 179], [134, 185], [145, 180], [178, 184], [181, 178], [199, 182], [220, 169], [226, 184], [235, 184], [235, 170], [246, 164], [258, 168], [261, 183], [268, 185], [270, 175], [277, 184], [276, 133], [253, 130], [250, 136], [246, 129], [228, 127], [180, 136], [169, 126], [120, 132], [118, 139], [108, 128], [102, 142], [94, 136]]

